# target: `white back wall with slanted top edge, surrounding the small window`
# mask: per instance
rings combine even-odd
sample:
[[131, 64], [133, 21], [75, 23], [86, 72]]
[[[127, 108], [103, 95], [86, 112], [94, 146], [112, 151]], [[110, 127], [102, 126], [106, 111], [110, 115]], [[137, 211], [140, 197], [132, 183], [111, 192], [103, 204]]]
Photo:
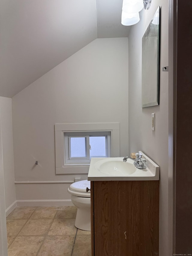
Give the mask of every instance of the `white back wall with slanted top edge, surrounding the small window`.
[[[72, 182], [79, 176], [55, 175], [55, 123], [119, 122], [120, 155], [127, 155], [128, 38], [96, 39], [15, 95], [12, 104], [16, 181]], [[68, 200], [69, 185], [16, 184], [16, 197]]]

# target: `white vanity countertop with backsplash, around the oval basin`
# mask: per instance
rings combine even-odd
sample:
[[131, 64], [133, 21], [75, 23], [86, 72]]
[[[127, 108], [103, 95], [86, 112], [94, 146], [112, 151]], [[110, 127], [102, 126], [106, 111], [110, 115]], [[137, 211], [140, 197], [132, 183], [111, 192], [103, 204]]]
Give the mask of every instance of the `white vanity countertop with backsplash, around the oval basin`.
[[[129, 164], [133, 164], [132, 169], [135, 167], [134, 173], [123, 175], [121, 172], [116, 171], [117, 168], [114, 168], [113, 174], [104, 173], [99, 170], [100, 163], [104, 163], [105, 161], [123, 161], [123, 157], [118, 158], [91, 158], [91, 163], [88, 172], [88, 180], [90, 181], [104, 181], [104, 180], [159, 180], [159, 166], [155, 164], [148, 156], [143, 154], [143, 152], [139, 151], [140, 154], [143, 155], [143, 158], [146, 159], [146, 169], [138, 169], [134, 166], [134, 161], [128, 158], [127, 162]], [[101, 162], [99, 162], [101, 161]]]

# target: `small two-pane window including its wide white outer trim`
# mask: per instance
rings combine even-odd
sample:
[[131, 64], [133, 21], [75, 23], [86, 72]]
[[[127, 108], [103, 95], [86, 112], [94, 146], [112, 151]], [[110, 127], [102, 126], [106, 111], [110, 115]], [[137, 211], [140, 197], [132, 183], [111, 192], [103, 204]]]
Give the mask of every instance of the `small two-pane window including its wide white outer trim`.
[[55, 124], [56, 174], [88, 173], [92, 157], [119, 156], [119, 123]]

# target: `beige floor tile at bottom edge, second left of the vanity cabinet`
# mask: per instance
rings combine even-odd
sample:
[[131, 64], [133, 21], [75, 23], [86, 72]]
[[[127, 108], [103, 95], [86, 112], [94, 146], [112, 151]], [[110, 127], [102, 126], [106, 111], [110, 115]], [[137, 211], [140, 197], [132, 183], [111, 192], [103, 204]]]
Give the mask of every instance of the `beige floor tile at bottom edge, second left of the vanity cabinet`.
[[71, 256], [75, 236], [47, 236], [38, 256]]

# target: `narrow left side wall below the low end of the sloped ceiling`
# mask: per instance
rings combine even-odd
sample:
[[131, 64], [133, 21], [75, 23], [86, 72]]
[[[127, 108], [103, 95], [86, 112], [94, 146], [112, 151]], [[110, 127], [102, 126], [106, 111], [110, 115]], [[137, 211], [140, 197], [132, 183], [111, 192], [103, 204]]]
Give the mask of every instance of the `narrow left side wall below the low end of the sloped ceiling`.
[[7, 215], [16, 207], [11, 101], [11, 98], [0, 97], [5, 207]]

